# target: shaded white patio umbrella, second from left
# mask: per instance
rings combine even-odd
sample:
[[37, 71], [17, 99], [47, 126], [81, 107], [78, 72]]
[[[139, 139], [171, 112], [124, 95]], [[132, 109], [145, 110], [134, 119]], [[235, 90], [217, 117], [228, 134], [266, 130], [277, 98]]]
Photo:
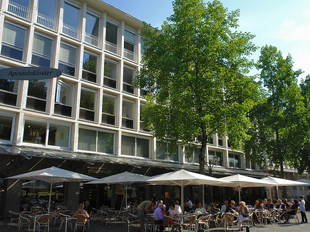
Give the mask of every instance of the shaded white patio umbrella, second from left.
[[140, 174], [124, 171], [122, 173], [118, 173], [112, 176], [107, 176], [99, 180], [93, 180], [85, 184], [122, 184], [122, 185], [125, 185], [126, 187], [125, 188], [125, 202], [126, 202], [126, 209], [127, 209], [127, 185], [130, 185], [136, 182], [145, 182], [148, 179], [149, 179], [149, 176], [143, 176]]

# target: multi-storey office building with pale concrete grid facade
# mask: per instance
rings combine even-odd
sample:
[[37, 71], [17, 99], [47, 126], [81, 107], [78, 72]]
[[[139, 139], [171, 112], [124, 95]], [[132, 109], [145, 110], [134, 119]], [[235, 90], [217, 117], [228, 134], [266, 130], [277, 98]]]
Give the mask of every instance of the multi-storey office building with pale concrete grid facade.
[[[185, 158], [180, 147], [166, 157], [165, 145], [143, 127], [147, 91], [132, 88], [141, 69], [142, 26], [100, 0], [1, 0], [0, 67], [63, 73], [40, 81], [0, 80], [2, 212], [8, 204], [19, 207], [21, 199], [21, 182], [4, 178], [52, 165], [99, 178], [121, 171], [198, 170], [198, 150]], [[216, 176], [266, 175], [216, 134], [206, 159], [214, 156]], [[68, 186], [66, 191], [76, 187]]]

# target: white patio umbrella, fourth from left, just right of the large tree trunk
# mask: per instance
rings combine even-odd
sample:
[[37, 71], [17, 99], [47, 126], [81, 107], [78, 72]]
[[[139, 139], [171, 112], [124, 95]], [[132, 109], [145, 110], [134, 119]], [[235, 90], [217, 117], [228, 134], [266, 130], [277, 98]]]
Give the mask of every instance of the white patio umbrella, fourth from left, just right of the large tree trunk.
[[262, 179], [256, 179], [251, 178], [249, 176], [242, 176], [240, 174], [234, 175], [234, 176], [226, 176], [223, 178], [220, 178], [220, 180], [227, 180], [230, 181], [231, 184], [228, 184], [227, 187], [238, 187], [238, 193], [239, 193], [239, 202], [241, 200], [240, 197], [240, 189], [245, 187], [270, 187], [275, 186], [277, 184], [273, 184], [271, 182], [267, 182]]

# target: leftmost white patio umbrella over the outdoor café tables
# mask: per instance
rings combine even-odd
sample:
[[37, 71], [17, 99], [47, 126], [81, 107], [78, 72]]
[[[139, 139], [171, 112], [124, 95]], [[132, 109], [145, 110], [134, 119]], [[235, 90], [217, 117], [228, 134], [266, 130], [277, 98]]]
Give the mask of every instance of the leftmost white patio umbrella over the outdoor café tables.
[[[59, 169], [58, 167], [49, 167], [38, 171], [30, 171], [17, 176], [10, 176], [6, 179], [20, 180], [44, 180], [50, 183], [50, 199], [52, 196], [52, 185], [56, 182], [81, 182], [87, 180], [98, 180], [91, 176], [86, 176], [73, 171]], [[50, 213], [50, 199], [48, 200], [48, 213]]]

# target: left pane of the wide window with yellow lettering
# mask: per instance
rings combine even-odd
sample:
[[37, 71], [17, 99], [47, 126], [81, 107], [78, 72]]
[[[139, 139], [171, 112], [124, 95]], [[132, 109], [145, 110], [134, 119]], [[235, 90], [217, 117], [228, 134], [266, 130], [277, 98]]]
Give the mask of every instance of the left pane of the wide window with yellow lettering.
[[46, 123], [25, 120], [25, 127], [23, 128], [23, 142], [45, 145], [46, 127]]

